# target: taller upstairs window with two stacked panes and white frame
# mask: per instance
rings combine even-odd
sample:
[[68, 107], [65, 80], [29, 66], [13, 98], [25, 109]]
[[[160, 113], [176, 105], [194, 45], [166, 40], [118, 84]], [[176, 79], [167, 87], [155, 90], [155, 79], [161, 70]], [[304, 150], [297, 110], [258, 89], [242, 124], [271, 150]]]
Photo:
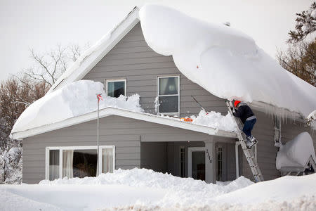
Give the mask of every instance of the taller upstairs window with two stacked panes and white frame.
[[179, 113], [179, 85], [179, 76], [158, 77], [158, 113]]

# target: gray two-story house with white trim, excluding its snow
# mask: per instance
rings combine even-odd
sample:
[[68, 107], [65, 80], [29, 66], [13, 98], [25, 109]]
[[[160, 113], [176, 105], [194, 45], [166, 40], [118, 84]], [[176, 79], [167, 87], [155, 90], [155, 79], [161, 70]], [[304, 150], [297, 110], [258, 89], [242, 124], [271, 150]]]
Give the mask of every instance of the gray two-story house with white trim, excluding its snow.
[[[13, 138], [22, 139], [24, 183], [95, 176], [134, 167], [206, 182], [233, 180], [239, 175], [253, 178], [235, 132], [162, 116], [198, 115], [201, 108], [192, 96], [206, 110], [225, 115], [227, 107], [224, 98], [193, 82], [196, 78], [186, 77], [172, 56], [163, 56], [148, 46], [138, 13], [139, 9], [134, 8], [74, 63], [48, 94], [81, 79], [92, 80], [103, 83], [108, 96], [139, 94], [144, 112], [100, 109], [99, 153], [96, 110], [57, 122], [29, 124], [27, 129], [13, 129]], [[258, 118], [254, 128], [254, 136], [259, 140], [254, 148], [256, 160], [264, 179], [275, 179], [281, 176], [275, 166], [275, 144], [290, 141], [301, 132], [311, 132], [311, 128], [305, 126], [300, 113], [264, 101], [254, 101], [251, 108]], [[267, 110], [282, 110], [287, 115], [280, 118]], [[315, 147], [316, 134], [311, 134]]]

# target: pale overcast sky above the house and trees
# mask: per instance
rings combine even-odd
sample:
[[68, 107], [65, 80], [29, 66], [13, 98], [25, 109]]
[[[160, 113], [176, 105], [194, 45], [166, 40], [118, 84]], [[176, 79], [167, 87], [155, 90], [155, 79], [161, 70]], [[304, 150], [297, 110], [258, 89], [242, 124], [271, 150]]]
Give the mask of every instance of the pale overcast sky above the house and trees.
[[0, 81], [33, 65], [29, 49], [44, 53], [58, 44], [93, 45], [134, 6], [162, 4], [213, 23], [230, 22], [275, 58], [286, 49], [295, 13], [311, 0], [0, 0]]

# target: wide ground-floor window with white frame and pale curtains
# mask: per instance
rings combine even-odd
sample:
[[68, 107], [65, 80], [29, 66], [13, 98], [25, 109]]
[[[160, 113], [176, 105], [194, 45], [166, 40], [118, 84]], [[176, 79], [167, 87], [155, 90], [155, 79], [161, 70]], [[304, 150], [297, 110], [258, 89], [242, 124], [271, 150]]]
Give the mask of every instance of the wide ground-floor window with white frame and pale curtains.
[[114, 146], [65, 146], [46, 148], [46, 179], [96, 177], [114, 170]]

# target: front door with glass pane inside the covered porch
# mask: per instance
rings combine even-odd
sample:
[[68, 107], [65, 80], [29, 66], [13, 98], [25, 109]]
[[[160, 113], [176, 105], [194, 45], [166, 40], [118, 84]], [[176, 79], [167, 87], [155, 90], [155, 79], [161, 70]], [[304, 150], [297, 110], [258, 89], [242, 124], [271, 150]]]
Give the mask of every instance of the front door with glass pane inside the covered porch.
[[188, 176], [193, 179], [205, 180], [205, 148], [187, 148]]

